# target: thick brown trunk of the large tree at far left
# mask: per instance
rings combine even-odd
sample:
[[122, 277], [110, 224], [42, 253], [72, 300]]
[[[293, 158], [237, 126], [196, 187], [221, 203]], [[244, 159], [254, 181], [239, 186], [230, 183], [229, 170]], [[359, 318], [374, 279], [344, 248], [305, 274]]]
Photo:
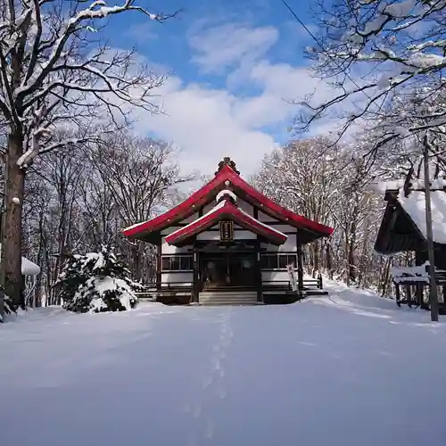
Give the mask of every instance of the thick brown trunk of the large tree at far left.
[[15, 306], [24, 306], [21, 280], [21, 212], [25, 172], [17, 165], [23, 150], [20, 132], [8, 137], [6, 154], [6, 203], [4, 216], [4, 289]]

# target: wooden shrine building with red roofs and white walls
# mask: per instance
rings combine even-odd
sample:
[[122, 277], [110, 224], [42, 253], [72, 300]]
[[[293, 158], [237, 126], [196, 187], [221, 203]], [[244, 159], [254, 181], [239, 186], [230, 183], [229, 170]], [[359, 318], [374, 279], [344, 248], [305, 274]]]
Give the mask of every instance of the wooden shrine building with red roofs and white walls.
[[157, 246], [158, 300], [237, 304], [292, 293], [291, 270], [304, 290], [302, 245], [332, 232], [261, 194], [229, 158], [186, 201], [123, 230]]

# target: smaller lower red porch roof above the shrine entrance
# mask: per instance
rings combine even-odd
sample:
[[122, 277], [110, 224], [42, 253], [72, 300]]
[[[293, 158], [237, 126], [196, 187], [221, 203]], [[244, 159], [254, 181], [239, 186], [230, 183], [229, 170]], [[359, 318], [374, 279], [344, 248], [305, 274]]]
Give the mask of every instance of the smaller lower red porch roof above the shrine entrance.
[[287, 235], [277, 231], [273, 227], [269, 227], [261, 223], [258, 219], [254, 219], [251, 215], [237, 208], [235, 204], [227, 200], [219, 202], [215, 208], [207, 212], [200, 219], [194, 220], [186, 227], [180, 227], [177, 231], [166, 236], [168, 244], [180, 244], [192, 235], [196, 235], [213, 227], [221, 220], [231, 220], [237, 225], [252, 231], [254, 234], [264, 236], [272, 244], [285, 244]]

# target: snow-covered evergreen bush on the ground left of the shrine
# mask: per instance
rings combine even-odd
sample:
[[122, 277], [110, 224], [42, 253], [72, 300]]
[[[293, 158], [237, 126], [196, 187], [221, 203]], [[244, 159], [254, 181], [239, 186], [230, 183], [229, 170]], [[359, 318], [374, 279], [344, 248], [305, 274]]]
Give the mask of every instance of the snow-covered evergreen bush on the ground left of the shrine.
[[136, 307], [141, 285], [111, 249], [73, 255], [57, 283], [63, 308], [79, 313], [123, 311]]

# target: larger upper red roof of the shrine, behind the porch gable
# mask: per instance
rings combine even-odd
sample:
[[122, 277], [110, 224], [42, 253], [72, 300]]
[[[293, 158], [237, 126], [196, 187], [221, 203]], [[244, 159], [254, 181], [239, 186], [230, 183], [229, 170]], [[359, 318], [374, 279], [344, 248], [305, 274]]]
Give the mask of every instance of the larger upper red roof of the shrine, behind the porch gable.
[[[229, 182], [229, 186], [225, 183]], [[186, 219], [198, 211], [203, 205], [211, 202], [222, 188], [230, 187], [236, 194], [241, 194], [246, 202], [257, 206], [262, 212], [271, 217], [291, 225], [303, 231], [312, 233], [311, 239], [329, 236], [333, 233], [333, 228], [321, 225], [316, 221], [306, 219], [301, 215], [288, 211], [276, 202], [270, 200], [266, 195], [250, 186], [229, 166], [224, 166], [209, 183], [202, 186], [192, 194], [187, 200], [181, 202], [175, 208], [161, 214], [154, 219], [128, 227], [122, 233], [132, 238], [143, 238], [148, 240], [150, 235], [157, 234], [161, 230], [175, 226], [175, 223]]]

